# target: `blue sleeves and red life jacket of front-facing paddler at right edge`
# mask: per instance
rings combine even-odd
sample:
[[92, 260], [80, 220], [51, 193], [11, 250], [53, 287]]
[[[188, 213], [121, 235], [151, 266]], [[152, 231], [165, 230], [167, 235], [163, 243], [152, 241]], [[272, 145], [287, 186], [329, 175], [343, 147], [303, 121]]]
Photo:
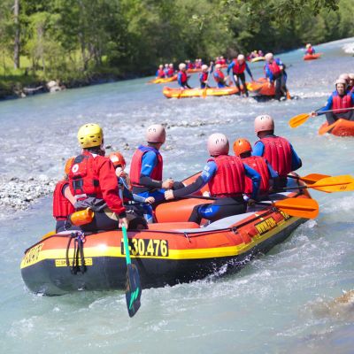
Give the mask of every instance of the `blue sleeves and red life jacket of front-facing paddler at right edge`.
[[353, 110], [350, 111], [338, 111], [338, 112], [326, 112], [329, 110], [341, 109], [341, 108], [350, 108], [354, 106], [354, 93], [347, 91], [344, 95], [338, 95], [337, 91], [334, 91], [331, 96], [327, 99], [327, 104], [325, 107], [321, 108], [317, 114], [322, 115], [326, 114], [326, 119], [328, 125], [335, 123], [337, 119], [347, 119], [347, 120], [354, 120], [354, 112]]

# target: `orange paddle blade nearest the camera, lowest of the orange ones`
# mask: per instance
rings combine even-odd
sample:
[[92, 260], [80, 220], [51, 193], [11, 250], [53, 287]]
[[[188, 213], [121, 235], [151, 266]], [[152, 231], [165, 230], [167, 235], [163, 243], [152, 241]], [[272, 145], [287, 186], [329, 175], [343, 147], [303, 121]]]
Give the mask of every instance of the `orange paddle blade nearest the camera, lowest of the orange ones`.
[[314, 199], [288, 198], [273, 203], [273, 206], [298, 218], [315, 219], [319, 214], [319, 204]]

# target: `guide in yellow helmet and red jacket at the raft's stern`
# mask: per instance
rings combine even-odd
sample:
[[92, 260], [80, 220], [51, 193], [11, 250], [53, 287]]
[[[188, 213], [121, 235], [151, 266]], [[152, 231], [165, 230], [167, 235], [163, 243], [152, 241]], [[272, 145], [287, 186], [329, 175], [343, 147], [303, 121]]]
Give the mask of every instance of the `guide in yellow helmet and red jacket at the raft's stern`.
[[81, 229], [96, 232], [128, 227], [112, 161], [104, 157], [102, 128], [88, 123], [79, 129], [77, 136], [82, 151], [74, 158], [69, 172], [70, 190], [77, 200], [76, 211], [90, 208], [95, 212], [94, 219]]

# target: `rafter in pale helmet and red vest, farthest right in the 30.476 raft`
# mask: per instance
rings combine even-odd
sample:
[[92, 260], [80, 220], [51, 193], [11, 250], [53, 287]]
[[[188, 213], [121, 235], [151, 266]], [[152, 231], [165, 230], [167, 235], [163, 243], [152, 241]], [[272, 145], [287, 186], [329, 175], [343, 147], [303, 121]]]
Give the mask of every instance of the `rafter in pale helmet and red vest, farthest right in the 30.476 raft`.
[[266, 158], [279, 175], [279, 185], [274, 187], [283, 188], [287, 185], [288, 174], [296, 171], [303, 163], [287, 139], [274, 135], [271, 116], [262, 114], [256, 117], [254, 125], [259, 140], [254, 145], [252, 156]]

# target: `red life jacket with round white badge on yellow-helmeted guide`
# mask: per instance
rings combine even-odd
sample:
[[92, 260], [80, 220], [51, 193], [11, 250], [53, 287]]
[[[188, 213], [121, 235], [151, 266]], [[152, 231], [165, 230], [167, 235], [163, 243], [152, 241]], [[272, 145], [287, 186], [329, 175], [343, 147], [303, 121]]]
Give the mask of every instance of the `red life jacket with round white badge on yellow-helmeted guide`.
[[98, 172], [94, 167], [96, 157], [98, 156], [89, 153], [89, 151], [84, 151], [73, 160], [72, 168], [68, 174], [69, 186], [73, 196], [81, 195], [81, 199], [88, 196], [102, 199]]

